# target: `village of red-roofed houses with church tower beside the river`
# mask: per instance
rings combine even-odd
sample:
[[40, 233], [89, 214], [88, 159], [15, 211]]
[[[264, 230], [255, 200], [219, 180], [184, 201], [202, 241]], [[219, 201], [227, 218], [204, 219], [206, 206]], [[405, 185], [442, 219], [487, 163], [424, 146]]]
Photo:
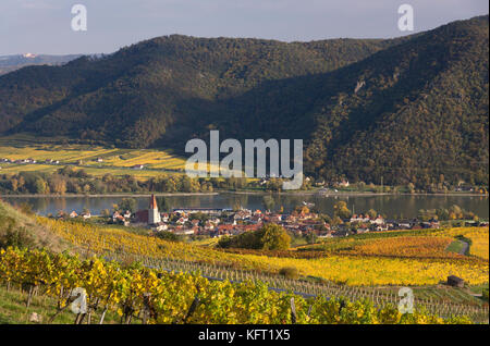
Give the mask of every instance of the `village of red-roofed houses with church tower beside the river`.
[[[89, 211], [79, 215], [72, 211], [64, 218], [90, 219]], [[114, 211], [106, 215], [106, 222], [124, 226], [144, 227], [154, 234], [171, 232], [175, 235], [195, 235], [221, 237], [238, 235], [244, 232], [259, 230], [266, 223], [281, 225], [294, 236], [314, 236], [317, 238], [348, 236], [367, 232], [383, 232], [391, 230], [439, 228], [436, 219], [420, 221], [387, 220], [382, 215], [376, 218], [366, 214], [352, 214], [350, 218], [330, 224], [320, 214], [311, 212], [307, 205], [298, 206], [291, 212], [271, 212], [249, 209], [217, 209], [217, 208], [180, 208], [171, 212], [160, 212], [154, 195], [149, 198], [148, 209], [132, 213], [128, 210]], [[486, 225], [486, 224], [480, 224]], [[488, 224], [487, 224], [488, 225]]]

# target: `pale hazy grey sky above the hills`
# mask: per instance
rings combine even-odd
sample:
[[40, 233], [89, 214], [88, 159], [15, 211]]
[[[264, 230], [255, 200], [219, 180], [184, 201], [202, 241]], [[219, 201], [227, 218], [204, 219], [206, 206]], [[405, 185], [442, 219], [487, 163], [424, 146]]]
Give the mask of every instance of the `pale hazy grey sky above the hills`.
[[[87, 8], [87, 32], [71, 9]], [[397, 9], [414, 8], [400, 32]], [[487, 0], [0, 0], [0, 55], [109, 53], [139, 40], [183, 34], [285, 41], [395, 37], [488, 14]]]

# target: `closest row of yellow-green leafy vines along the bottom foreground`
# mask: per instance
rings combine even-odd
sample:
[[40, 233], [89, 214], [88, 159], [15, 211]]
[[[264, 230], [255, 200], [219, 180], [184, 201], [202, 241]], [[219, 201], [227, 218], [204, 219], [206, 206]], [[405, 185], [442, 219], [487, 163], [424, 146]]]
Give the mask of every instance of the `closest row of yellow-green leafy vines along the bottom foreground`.
[[[122, 267], [96, 257], [81, 260], [44, 250], [0, 251], [0, 280], [11, 288], [26, 287], [30, 304], [37, 294], [58, 301], [57, 313], [83, 297], [86, 309], [75, 310], [75, 323], [103, 323], [115, 310], [121, 323], [470, 323], [467, 317], [441, 318], [416, 309], [402, 314], [395, 306], [377, 308], [368, 299], [317, 296], [304, 298], [277, 293], [246, 281], [210, 281], [200, 275], [174, 273], [136, 264]], [[83, 291], [79, 289], [83, 288]], [[74, 293], [79, 292], [78, 295]], [[75, 306], [76, 308], [77, 306]], [[82, 307], [82, 304], [79, 304]], [[93, 316], [100, 311], [100, 320]]]

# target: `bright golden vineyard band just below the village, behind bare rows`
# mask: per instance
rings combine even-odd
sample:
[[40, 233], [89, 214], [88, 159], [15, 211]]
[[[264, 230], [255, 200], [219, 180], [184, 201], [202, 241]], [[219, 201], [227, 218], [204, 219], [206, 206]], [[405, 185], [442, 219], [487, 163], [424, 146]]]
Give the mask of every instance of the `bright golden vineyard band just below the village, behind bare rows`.
[[[140, 256], [177, 259], [187, 262], [223, 265], [232, 269], [277, 274], [281, 268], [294, 267], [303, 276], [317, 276], [350, 286], [436, 285], [449, 275], [457, 275], [471, 285], [488, 283], [488, 261], [479, 258], [406, 258], [324, 254], [322, 257], [279, 258], [265, 255], [241, 255], [212, 248], [172, 243], [156, 237], [127, 233], [70, 221], [39, 218], [39, 223], [71, 244], [93, 254], [122, 257]], [[488, 234], [488, 230], [487, 230]]]

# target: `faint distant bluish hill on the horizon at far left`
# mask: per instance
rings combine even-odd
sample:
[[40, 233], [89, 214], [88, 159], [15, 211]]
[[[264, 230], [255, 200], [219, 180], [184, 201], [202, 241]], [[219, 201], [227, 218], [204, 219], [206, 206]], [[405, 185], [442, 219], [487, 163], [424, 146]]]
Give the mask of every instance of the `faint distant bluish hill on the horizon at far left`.
[[62, 65], [81, 54], [71, 55], [46, 55], [46, 54], [17, 54], [0, 55], [0, 75], [25, 67], [29, 65]]

